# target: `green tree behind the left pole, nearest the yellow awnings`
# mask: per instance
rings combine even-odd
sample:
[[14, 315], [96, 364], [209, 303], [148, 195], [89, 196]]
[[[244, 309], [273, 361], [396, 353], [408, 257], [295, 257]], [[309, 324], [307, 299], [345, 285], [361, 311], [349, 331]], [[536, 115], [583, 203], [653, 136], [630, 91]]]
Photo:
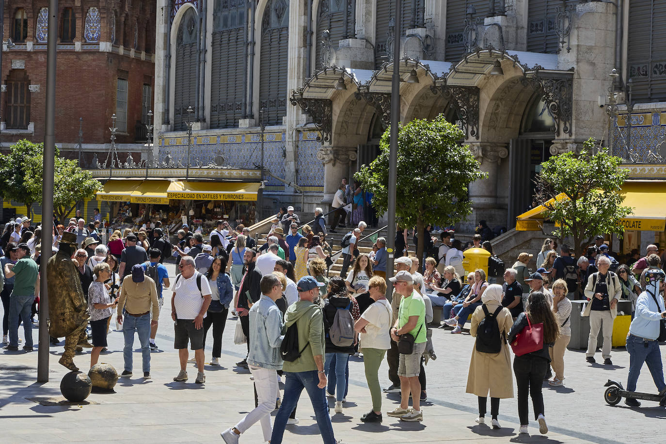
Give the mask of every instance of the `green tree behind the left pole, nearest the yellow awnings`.
[[[25, 171], [25, 186], [37, 196], [37, 202], [42, 202], [42, 168], [43, 158], [29, 159]], [[53, 212], [59, 220], [65, 220], [67, 214], [72, 212], [77, 202], [95, 196], [102, 189], [99, 180], [94, 179], [91, 172], [79, 167], [77, 160], [62, 157], [55, 158], [53, 187]]]

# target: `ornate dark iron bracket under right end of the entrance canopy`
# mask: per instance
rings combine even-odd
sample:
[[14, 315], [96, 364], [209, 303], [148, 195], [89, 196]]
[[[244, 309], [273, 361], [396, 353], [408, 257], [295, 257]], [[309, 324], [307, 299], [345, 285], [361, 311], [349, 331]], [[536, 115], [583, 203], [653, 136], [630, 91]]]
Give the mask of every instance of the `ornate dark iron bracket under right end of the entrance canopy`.
[[548, 112], [555, 120], [555, 136], [560, 130], [573, 135], [573, 77], [570, 75], [541, 75], [525, 77], [523, 85], [531, 85], [543, 96]]

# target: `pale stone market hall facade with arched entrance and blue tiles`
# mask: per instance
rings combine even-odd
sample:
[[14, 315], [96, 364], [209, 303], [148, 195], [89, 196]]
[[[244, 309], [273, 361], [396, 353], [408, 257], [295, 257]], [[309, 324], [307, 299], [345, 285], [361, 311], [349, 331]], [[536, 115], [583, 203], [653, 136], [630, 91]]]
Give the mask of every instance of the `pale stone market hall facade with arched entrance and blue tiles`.
[[636, 171], [663, 163], [666, 8], [657, 2], [402, 5], [396, 36], [388, 0], [158, 0], [155, 155], [264, 164], [264, 210], [300, 200], [311, 210], [376, 156], [397, 67], [400, 120], [444, 113], [489, 174], [470, 184], [463, 232], [481, 219], [513, 228], [533, 204], [539, 164], [587, 138]]

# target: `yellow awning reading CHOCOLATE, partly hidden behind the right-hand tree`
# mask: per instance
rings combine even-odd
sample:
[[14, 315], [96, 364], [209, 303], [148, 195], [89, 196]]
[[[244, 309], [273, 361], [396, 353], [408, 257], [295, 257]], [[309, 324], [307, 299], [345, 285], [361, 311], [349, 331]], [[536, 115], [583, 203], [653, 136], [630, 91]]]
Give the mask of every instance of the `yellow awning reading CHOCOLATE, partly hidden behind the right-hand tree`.
[[[621, 220], [625, 230], [663, 231], [666, 229], [666, 208], [655, 204], [666, 197], [666, 181], [627, 181], [622, 186], [621, 194], [624, 196], [623, 204], [633, 208], [633, 214]], [[517, 231], [541, 230], [546, 211], [545, 205], [562, 198], [566, 199], [567, 196], [559, 194], [545, 204], [517, 216], [515, 229]]]

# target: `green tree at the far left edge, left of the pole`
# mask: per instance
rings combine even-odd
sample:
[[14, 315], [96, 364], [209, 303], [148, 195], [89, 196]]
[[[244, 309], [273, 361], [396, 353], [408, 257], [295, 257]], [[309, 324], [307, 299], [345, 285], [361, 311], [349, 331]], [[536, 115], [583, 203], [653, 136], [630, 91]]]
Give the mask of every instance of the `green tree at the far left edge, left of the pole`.
[[41, 201], [41, 189], [39, 194], [35, 194], [35, 190], [26, 186], [25, 172], [33, 158], [41, 158], [43, 155], [44, 144], [25, 139], [12, 145], [8, 154], [0, 155], [0, 194], [4, 198], [23, 202], [29, 217], [33, 216], [33, 204]]

